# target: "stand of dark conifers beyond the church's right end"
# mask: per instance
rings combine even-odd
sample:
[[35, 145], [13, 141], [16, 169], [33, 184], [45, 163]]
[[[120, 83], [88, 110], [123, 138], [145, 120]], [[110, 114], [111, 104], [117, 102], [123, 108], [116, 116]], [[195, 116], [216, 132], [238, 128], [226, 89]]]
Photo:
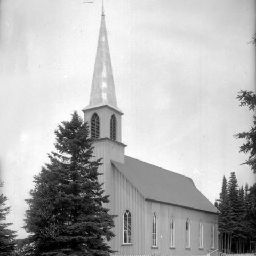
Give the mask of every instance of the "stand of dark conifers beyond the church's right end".
[[255, 184], [238, 188], [234, 172], [227, 183], [223, 177], [218, 199], [220, 250], [230, 253], [252, 253], [256, 250]]

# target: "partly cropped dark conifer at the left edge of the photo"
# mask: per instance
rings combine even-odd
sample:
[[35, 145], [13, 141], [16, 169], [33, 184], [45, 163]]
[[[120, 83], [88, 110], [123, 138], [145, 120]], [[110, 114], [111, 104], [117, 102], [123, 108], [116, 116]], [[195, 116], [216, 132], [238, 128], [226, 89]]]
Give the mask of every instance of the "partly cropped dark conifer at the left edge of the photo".
[[[0, 181], [0, 187], [3, 187], [2, 181]], [[0, 195], [0, 256], [10, 256], [15, 249], [15, 231], [8, 229], [11, 223], [3, 223], [10, 212], [10, 207], [5, 207], [6, 200], [7, 197], [2, 193]]]

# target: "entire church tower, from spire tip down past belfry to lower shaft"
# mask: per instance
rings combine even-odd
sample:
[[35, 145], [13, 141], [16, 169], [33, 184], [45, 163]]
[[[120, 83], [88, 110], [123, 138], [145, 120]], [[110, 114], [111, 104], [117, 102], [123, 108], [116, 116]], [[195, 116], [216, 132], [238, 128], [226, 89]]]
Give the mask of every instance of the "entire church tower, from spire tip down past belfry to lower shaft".
[[[99, 182], [105, 183], [107, 195], [112, 192], [111, 160], [124, 163], [122, 143], [122, 115], [117, 107], [114, 78], [108, 46], [105, 12], [102, 4], [98, 47], [94, 64], [89, 105], [82, 109], [84, 121], [88, 122], [94, 139], [94, 156], [103, 158], [99, 172]], [[110, 207], [111, 209], [111, 207]]]

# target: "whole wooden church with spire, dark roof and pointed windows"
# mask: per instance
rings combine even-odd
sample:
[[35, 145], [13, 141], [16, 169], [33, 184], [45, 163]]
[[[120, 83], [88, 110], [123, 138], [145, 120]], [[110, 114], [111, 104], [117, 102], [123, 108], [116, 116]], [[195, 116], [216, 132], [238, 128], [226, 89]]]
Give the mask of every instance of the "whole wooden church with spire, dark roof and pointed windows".
[[114, 255], [206, 255], [218, 251], [218, 214], [193, 180], [125, 155], [102, 7], [89, 105], [83, 110], [103, 158], [99, 181], [115, 214]]

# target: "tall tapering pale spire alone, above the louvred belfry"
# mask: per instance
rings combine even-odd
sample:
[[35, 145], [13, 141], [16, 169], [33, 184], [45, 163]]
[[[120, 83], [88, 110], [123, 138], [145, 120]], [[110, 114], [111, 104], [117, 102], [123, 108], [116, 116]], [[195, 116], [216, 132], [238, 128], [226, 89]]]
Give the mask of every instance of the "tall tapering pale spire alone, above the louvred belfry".
[[110, 105], [111, 107], [117, 108], [103, 1], [98, 47], [94, 64], [89, 102], [89, 106], [98, 105]]

